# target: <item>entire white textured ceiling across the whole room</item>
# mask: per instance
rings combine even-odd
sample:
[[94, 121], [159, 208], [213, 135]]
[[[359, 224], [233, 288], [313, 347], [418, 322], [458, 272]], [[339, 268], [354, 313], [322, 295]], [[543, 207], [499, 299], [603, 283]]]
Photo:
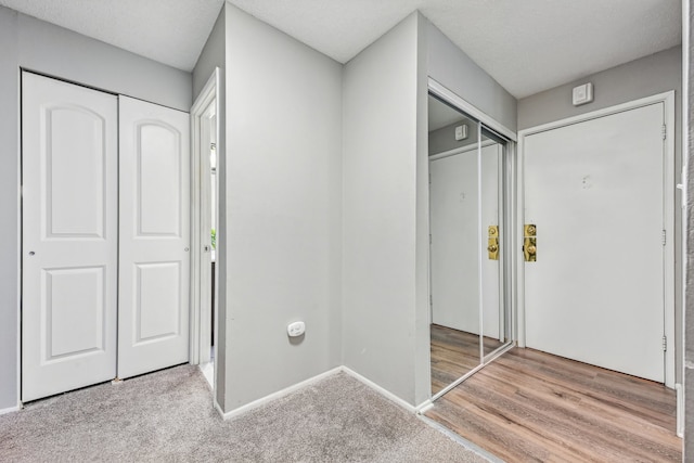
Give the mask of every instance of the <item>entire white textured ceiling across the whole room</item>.
[[[0, 0], [191, 70], [223, 0]], [[516, 98], [681, 43], [680, 0], [230, 0], [345, 63], [420, 10]]]

